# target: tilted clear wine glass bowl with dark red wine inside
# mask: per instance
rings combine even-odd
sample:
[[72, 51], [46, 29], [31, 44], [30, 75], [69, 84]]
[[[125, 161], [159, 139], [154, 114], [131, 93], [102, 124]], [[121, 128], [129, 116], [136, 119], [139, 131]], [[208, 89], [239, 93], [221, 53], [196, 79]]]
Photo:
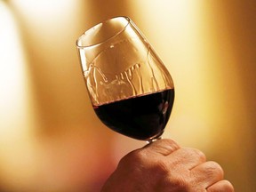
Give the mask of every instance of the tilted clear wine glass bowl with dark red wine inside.
[[76, 47], [101, 122], [133, 139], [161, 139], [174, 100], [172, 76], [132, 20], [101, 22]]

